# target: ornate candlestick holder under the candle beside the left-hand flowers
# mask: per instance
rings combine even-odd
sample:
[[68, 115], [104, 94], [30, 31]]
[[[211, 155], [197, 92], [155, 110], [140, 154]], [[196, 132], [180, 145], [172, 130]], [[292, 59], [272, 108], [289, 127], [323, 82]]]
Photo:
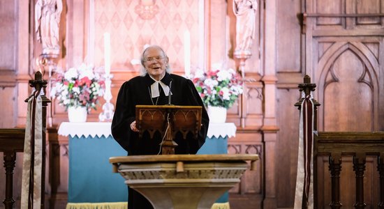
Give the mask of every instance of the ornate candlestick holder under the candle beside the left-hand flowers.
[[104, 93], [104, 100], [105, 104], [103, 104], [103, 111], [98, 115], [99, 121], [112, 121], [113, 114], [115, 107], [110, 102], [112, 100], [112, 93], [111, 93], [111, 79], [113, 75], [105, 74], [105, 93]]

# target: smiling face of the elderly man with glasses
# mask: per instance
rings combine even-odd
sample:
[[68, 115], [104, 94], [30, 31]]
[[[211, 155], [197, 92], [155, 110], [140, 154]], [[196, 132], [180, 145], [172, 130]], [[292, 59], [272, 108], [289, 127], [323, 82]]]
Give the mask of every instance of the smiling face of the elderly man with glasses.
[[165, 68], [168, 65], [168, 57], [164, 57], [163, 52], [158, 47], [147, 49], [144, 54], [144, 67], [148, 74], [154, 79], [159, 80], [165, 75]]

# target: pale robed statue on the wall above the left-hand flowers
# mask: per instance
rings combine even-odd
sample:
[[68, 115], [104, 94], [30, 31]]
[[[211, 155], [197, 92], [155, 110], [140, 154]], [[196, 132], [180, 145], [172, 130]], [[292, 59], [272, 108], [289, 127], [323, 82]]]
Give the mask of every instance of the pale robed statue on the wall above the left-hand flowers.
[[43, 54], [59, 55], [59, 23], [63, 3], [61, 0], [38, 0], [35, 6], [35, 32], [43, 45]]

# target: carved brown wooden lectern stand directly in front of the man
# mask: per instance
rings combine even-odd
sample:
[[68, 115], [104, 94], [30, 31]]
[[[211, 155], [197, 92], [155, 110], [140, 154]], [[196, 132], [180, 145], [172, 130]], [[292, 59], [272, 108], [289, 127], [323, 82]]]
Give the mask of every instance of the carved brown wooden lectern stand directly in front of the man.
[[186, 135], [191, 132], [195, 139], [201, 128], [202, 107], [177, 105], [136, 105], [136, 126], [139, 137], [148, 132], [151, 138], [160, 132], [163, 138], [161, 149], [163, 155], [175, 154], [177, 133]]

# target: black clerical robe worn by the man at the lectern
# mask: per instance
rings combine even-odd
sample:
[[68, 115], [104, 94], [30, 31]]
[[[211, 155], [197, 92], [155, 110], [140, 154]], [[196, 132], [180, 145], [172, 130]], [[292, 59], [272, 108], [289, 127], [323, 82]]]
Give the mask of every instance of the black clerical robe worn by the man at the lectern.
[[[187, 139], [182, 139], [181, 134], [175, 139], [178, 144], [175, 154], [195, 154], [205, 143], [209, 125], [208, 114], [190, 79], [165, 73], [161, 82], [169, 86], [171, 79], [172, 104], [202, 107], [202, 127], [198, 133], [198, 139], [193, 139], [192, 134], [188, 134]], [[154, 80], [149, 75], [134, 77], [121, 86], [117, 96], [115, 115], [112, 120], [112, 136], [121, 147], [128, 151], [128, 155], [156, 155], [160, 152], [159, 144], [163, 137], [161, 134], [156, 132], [154, 138], [151, 139], [149, 134], [145, 133], [139, 139], [138, 132], [133, 132], [130, 127], [131, 123], [135, 121], [136, 105], [168, 104], [168, 96], [165, 96], [161, 86], [159, 86], [160, 96], [152, 98], [151, 85], [153, 83]], [[152, 206], [141, 194], [129, 189], [128, 208], [152, 208]]]

